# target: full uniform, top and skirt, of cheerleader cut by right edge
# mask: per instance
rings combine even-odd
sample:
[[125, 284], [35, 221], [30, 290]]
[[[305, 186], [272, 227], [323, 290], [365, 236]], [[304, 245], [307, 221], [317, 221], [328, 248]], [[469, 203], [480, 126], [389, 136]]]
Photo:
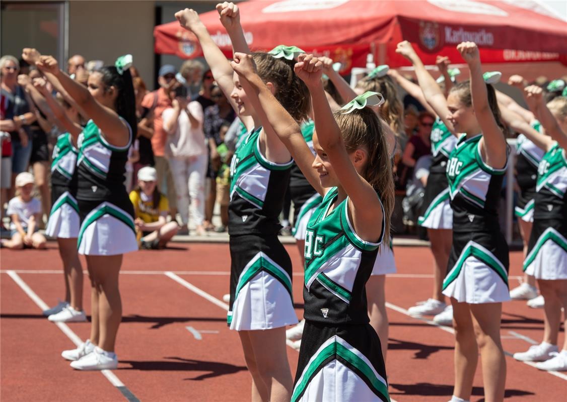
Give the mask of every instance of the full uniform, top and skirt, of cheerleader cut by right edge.
[[541, 159], [536, 190], [524, 272], [537, 279], [567, 279], [567, 159], [557, 143]]

